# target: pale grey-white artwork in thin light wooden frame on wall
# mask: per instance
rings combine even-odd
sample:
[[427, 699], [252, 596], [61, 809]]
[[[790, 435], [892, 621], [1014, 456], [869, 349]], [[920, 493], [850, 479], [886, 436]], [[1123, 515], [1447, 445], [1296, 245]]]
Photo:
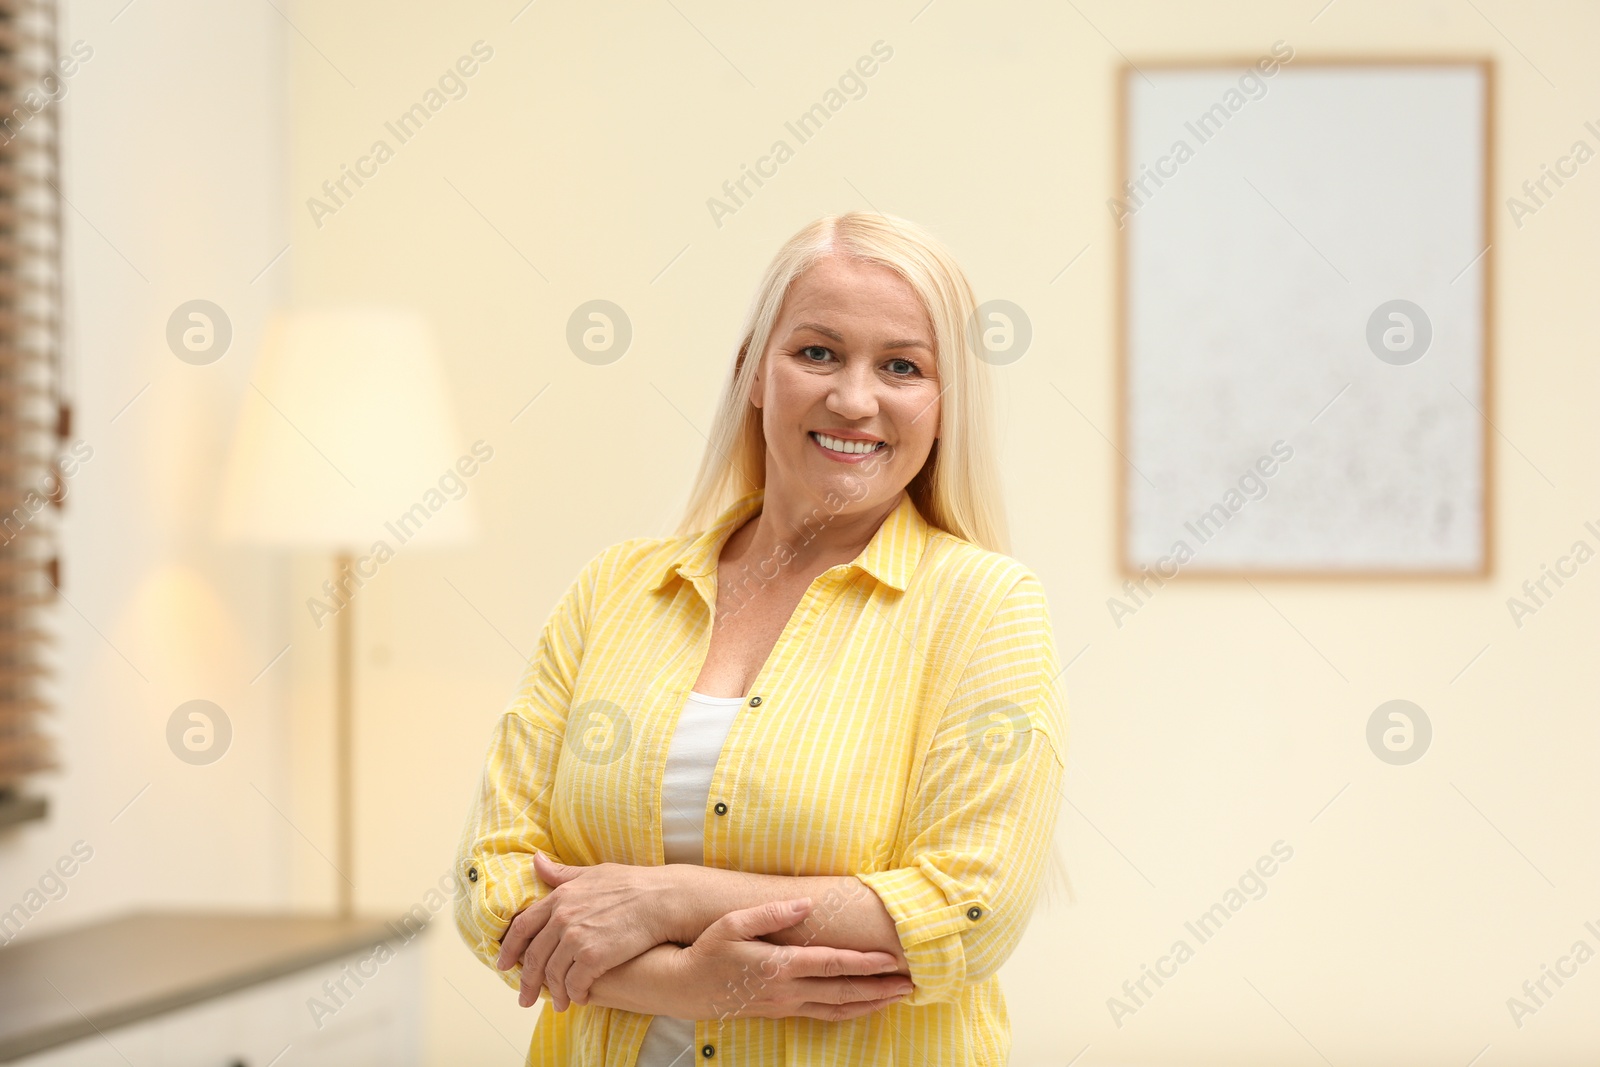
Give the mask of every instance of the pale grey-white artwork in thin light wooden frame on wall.
[[1123, 70], [1123, 569], [1485, 576], [1493, 66], [1290, 56]]

